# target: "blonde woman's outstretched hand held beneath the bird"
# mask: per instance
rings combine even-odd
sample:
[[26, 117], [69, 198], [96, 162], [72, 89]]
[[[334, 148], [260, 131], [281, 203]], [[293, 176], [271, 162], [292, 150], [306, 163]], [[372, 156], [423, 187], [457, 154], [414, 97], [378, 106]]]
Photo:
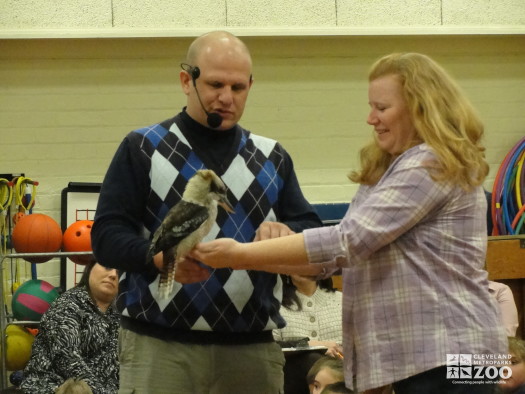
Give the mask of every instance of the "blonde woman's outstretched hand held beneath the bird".
[[241, 246], [241, 243], [232, 238], [219, 238], [197, 244], [189, 257], [213, 268], [241, 268]]

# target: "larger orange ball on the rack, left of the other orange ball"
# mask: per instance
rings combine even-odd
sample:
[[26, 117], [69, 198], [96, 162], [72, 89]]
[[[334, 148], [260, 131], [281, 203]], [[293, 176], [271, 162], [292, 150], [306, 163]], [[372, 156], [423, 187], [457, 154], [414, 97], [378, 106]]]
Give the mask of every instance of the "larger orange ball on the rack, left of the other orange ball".
[[[62, 246], [62, 230], [50, 216], [33, 213], [19, 218], [13, 229], [13, 246], [18, 253], [55, 253]], [[24, 257], [31, 263], [44, 263], [52, 259]]]

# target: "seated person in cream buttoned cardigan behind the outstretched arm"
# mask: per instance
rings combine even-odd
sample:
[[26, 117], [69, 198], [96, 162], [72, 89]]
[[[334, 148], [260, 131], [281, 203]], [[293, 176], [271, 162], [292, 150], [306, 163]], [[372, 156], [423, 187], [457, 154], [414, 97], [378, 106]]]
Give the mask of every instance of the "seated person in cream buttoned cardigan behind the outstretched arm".
[[326, 352], [300, 351], [285, 354], [285, 393], [307, 394], [305, 376], [323, 353], [341, 357], [342, 293], [332, 279], [316, 281], [309, 277], [281, 275], [283, 301], [280, 310], [286, 326], [273, 331], [276, 341], [308, 337], [309, 346], [326, 346]]

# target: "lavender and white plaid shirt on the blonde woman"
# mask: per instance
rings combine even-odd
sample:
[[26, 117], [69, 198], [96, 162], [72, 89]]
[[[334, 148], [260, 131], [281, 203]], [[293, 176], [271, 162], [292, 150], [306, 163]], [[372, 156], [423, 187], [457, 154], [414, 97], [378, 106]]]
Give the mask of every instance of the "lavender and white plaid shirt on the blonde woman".
[[312, 263], [343, 267], [346, 384], [389, 384], [446, 364], [447, 353], [507, 354], [488, 291], [486, 199], [435, 182], [426, 144], [361, 186], [337, 226], [304, 231]]

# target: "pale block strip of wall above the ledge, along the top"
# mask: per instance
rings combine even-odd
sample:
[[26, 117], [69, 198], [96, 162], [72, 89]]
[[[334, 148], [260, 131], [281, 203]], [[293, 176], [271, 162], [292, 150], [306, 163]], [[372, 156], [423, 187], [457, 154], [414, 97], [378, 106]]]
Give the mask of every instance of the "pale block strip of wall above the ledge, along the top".
[[523, 25], [523, 0], [3, 0], [2, 29]]

